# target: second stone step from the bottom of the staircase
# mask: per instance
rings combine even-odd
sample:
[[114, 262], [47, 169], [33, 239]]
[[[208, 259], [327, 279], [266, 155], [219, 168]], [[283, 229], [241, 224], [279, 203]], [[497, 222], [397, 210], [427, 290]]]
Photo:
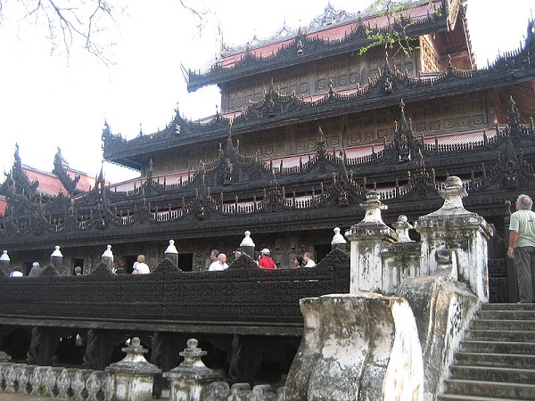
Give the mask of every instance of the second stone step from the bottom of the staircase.
[[491, 366], [451, 367], [450, 379], [467, 379], [473, 381], [505, 381], [508, 383], [535, 383], [535, 369], [517, 369]]

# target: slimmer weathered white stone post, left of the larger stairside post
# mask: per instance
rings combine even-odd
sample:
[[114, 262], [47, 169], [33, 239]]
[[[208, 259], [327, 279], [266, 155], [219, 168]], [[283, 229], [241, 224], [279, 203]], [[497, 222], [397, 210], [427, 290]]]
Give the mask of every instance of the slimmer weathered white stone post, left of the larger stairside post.
[[379, 198], [379, 192], [366, 193], [366, 202], [360, 204], [366, 210], [364, 219], [352, 225], [345, 236], [351, 241], [350, 293], [361, 291], [380, 292], [383, 289], [383, 263], [381, 250], [398, 240], [398, 235], [383, 223], [381, 210], [387, 206]]

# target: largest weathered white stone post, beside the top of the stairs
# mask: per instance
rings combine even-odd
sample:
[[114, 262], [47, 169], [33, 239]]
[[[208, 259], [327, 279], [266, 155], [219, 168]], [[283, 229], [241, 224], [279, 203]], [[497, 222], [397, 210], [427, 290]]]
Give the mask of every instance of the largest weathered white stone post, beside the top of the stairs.
[[467, 193], [459, 177], [449, 176], [439, 194], [444, 198], [442, 207], [419, 217], [415, 223], [422, 238], [420, 266], [429, 268], [422, 274], [444, 275], [442, 266], [450, 269], [457, 266], [457, 274], [449, 272], [449, 276], [467, 282], [478, 298], [486, 302], [489, 300], [487, 242], [493, 230], [483, 217], [465, 209], [463, 198]]

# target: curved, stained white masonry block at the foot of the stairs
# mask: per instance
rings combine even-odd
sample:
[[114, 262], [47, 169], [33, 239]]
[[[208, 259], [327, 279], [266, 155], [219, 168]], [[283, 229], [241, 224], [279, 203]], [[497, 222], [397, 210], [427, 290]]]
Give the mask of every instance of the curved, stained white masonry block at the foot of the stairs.
[[300, 309], [285, 401], [423, 399], [422, 348], [405, 299], [333, 294], [300, 299]]

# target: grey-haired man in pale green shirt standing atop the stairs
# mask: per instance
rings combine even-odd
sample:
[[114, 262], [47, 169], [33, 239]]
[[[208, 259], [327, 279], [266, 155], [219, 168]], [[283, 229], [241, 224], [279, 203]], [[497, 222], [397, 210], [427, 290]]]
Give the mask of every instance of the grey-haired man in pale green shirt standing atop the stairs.
[[535, 213], [528, 195], [520, 195], [509, 223], [507, 256], [514, 260], [521, 303], [533, 302], [535, 288]]

